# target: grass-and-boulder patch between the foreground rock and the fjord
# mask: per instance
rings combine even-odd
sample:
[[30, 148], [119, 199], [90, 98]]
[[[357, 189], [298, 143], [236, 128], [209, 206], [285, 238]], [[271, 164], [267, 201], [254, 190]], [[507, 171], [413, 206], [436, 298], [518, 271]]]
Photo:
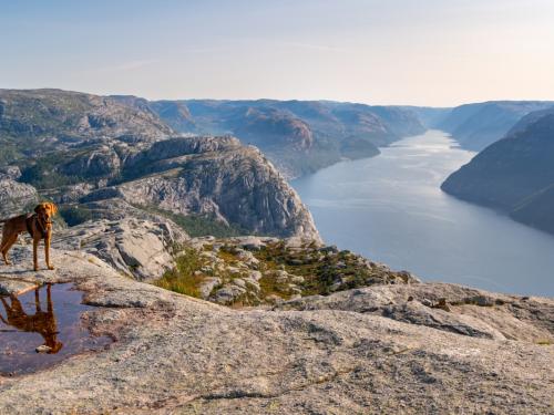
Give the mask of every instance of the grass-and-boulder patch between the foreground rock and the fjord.
[[331, 293], [375, 284], [418, 283], [411, 273], [394, 272], [350, 251], [298, 238], [194, 238], [177, 267], [156, 283], [225, 305], [275, 304], [314, 293]]

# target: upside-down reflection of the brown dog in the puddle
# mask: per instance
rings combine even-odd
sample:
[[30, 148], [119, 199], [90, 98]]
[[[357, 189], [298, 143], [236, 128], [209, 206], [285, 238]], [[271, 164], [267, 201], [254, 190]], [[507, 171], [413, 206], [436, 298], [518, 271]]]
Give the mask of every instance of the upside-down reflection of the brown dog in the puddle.
[[57, 340], [58, 324], [55, 322], [50, 289], [51, 286], [48, 284], [45, 312], [42, 311], [40, 305], [39, 289], [34, 290], [35, 313], [32, 315], [25, 313], [21, 302], [16, 295], [10, 295], [11, 305], [8, 304], [8, 301], [3, 297], [0, 297], [8, 318], [8, 320], [4, 320], [0, 313], [0, 320], [2, 320], [4, 324], [11, 325], [18, 330], [39, 333], [44, 338], [44, 351], [49, 354], [54, 354], [62, 349], [63, 344]]

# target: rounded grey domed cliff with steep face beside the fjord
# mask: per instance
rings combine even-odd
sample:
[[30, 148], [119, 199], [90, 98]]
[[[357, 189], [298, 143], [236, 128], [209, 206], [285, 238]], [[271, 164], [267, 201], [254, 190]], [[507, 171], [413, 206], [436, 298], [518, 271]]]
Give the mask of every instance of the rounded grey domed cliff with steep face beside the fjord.
[[296, 191], [257, 148], [234, 138], [174, 138], [129, 163], [124, 175], [148, 174], [117, 186], [129, 203], [207, 215], [247, 232], [319, 240]]

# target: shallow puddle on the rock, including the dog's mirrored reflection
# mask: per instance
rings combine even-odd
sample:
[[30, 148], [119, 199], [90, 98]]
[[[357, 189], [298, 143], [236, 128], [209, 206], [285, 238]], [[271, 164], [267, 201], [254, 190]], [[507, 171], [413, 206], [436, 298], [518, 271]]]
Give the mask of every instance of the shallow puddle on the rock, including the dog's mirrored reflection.
[[84, 328], [81, 315], [94, 308], [81, 300], [82, 292], [71, 283], [0, 297], [0, 375], [35, 372], [111, 343], [110, 338], [93, 336]]

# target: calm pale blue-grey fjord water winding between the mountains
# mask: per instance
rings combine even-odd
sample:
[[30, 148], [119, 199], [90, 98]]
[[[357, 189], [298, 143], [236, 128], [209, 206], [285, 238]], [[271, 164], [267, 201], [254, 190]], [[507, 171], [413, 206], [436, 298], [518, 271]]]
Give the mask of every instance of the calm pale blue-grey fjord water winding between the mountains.
[[327, 243], [427, 281], [554, 297], [554, 237], [441, 191], [473, 156], [430, 131], [293, 186]]

